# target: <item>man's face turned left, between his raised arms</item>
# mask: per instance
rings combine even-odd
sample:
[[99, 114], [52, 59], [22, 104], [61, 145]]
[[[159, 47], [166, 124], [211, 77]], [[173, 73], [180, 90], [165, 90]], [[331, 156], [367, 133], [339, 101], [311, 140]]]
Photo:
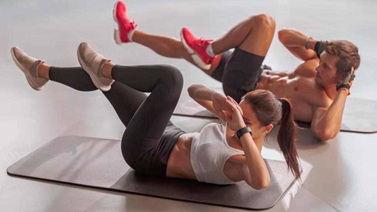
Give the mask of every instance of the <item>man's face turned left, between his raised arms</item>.
[[336, 74], [336, 63], [338, 56], [329, 55], [325, 51], [320, 55], [319, 66], [316, 68], [316, 83], [321, 86], [336, 84], [339, 82]]

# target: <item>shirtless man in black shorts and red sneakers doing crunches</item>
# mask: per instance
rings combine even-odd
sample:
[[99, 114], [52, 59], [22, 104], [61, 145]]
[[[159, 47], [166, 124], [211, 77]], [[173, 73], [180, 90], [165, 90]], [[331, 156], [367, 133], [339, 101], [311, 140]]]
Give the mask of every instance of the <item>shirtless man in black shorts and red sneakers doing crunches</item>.
[[[275, 31], [274, 19], [266, 14], [247, 18], [215, 41], [197, 38], [187, 28], [182, 29], [181, 40], [138, 31], [121, 1], [115, 4], [114, 19], [119, 26], [116, 43], [135, 42], [162, 56], [184, 58], [222, 82], [225, 95], [237, 102], [250, 90], [270, 90], [277, 98], [291, 99], [294, 118], [311, 122], [319, 139], [332, 139], [339, 133], [349, 87], [360, 65], [358, 49], [351, 42], [317, 41], [296, 29], [283, 29], [279, 40], [304, 63], [294, 71], [281, 72], [262, 66]], [[229, 51], [233, 48], [234, 52]], [[215, 90], [192, 85], [188, 91], [224, 120], [225, 108], [212, 104], [221, 98]]]

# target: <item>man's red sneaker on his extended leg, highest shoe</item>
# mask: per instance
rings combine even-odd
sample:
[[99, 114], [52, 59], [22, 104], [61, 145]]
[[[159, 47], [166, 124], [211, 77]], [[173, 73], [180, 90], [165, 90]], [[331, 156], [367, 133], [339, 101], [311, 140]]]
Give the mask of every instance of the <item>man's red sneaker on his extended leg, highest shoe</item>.
[[131, 21], [127, 15], [126, 4], [122, 1], [115, 3], [113, 9], [113, 16], [115, 22], [118, 24], [118, 29], [114, 30], [114, 40], [117, 44], [132, 42], [128, 35], [136, 29], [135, 21]]

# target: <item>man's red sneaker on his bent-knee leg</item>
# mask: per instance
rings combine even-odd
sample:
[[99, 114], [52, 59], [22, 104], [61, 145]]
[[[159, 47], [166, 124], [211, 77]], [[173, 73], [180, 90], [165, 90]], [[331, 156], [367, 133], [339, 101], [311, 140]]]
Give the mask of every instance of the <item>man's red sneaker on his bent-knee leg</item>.
[[186, 27], [181, 30], [181, 40], [185, 49], [192, 54], [194, 62], [202, 69], [210, 69], [214, 57], [208, 55], [205, 50], [213, 40], [197, 38]]

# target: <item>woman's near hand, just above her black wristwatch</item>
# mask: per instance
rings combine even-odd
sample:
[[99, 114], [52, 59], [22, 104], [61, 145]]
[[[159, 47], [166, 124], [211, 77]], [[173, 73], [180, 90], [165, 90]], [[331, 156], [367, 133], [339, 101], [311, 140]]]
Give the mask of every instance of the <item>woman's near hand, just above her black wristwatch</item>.
[[228, 122], [229, 128], [237, 132], [241, 128], [246, 127], [244, 119], [242, 118], [241, 107], [239, 107], [237, 102], [230, 97], [227, 97], [225, 102], [227, 103], [227, 107], [230, 107], [232, 110], [231, 116], [226, 116], [226, 122]]

